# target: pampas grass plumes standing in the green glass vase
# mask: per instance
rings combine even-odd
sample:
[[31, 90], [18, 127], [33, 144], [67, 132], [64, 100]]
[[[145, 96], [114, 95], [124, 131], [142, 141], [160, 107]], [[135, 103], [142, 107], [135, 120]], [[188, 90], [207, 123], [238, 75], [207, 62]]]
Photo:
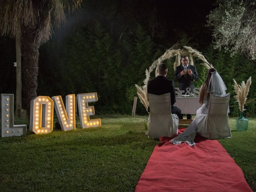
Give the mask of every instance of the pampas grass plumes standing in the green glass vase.
[[247, 95], [249, 93], [249, 89], [250, 89], [250, 85], [252, 84], [252, 78], [250, 77], [246, 84], [244, 83], [244, 81], [242, 81], [241, 85], [238, 85], [236, 80], [234, 80], [234, 92], [236, 93], [236, 95], [234, 96], [234, 98], [236, 98], [236, 101], [239, 104], [239, 110], [241, 112], [243, 112], [244, 109], [244, 104], [247, 100]]

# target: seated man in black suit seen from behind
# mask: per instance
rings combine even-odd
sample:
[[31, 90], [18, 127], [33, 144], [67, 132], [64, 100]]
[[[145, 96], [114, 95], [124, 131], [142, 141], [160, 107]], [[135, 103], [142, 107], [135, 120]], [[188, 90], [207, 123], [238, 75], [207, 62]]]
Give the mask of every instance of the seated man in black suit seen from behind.
[[148, 81], [148, 93], [155, 95], [170, 93], [172, 114], [177, 114], [177, 116], [180, 118], [180, 108], [173, 106], [176, 102], [174, 81], [166, 78], [167, 72], [168, 67], [165, 63], [158, 66], [159, 75], [156, 78]]

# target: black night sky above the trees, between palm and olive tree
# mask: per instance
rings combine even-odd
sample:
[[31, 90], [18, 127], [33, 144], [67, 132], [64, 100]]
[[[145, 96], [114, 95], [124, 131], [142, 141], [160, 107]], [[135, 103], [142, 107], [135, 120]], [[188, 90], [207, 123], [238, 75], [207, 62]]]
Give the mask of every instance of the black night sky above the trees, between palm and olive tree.
[[[109, 28], [114, 23], [116, 38], [134, 22], [142, 24], [151, 34], [152, 19], [156, 24], [154, 41], [157, 44], [174, 44], [181, 34], [191, 42], [207, 46], [212, 41], [212, 32], [206, 25], [206, 16], [215, 8], [215, 0], [103, 0], [84, 1], [80, 13], [68, 18], [62, 30], [73, 30], [78, 21], [101, 20]], [[154, 16], [153, 16], [154, 15]], [[110, 30], [110, 29], [109, 29]]]

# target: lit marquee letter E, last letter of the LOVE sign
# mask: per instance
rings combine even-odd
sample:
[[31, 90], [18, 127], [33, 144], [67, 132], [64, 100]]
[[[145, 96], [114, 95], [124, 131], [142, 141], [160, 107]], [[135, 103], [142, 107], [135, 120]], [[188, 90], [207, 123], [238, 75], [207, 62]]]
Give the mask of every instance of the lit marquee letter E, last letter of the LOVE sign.
[[98, 127], [101, 126], [100, 119], [90, 120], [89, 115], [94, 115], [94, 106], [88, 106], [89, 102], [98, 101], [97, 93], [84, 93], [78, 94], [78, 111], [80, 116], [80, 124], [82, 128]]

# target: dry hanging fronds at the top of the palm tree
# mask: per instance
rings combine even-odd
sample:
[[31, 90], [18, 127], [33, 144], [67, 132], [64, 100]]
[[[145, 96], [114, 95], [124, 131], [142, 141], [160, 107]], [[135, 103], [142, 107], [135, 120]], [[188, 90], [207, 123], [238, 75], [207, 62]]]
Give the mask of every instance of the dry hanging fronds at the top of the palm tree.
[[79, 8], [82, 0], [15, 0], [0, 1], [0, 34], [14, 37], [24, 27], [36, 33], [40, 43], [47, 42], [53, 26], [66, 21], [64, 10]]

